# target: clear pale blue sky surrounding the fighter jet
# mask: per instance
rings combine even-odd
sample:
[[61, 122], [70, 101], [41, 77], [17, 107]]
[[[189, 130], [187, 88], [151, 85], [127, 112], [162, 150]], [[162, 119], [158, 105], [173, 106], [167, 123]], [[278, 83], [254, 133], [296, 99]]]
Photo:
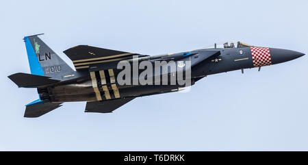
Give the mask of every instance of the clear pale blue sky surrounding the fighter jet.
[[188, 93], [134, 99], [112, 114], [64, 103], [23, 118], [36, 89], [23, 36], [62, 51], [76, 45], [155, 55], [225, 40], [308, 52], [307, 1], [3, 1], [0, 5], [0, 150], [308, 150], [308, 60], [210, 75]]

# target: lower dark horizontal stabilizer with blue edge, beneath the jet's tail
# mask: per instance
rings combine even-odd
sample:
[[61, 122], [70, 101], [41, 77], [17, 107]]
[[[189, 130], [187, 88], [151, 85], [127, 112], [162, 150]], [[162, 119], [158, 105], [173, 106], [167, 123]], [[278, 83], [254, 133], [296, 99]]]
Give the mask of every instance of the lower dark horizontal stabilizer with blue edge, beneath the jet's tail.
[[57, 107], [61, 107], [62, 103], [46, 103], [44, 101], [37, 101], [26, 105], [25, 118], [37, 118], [43, 114], [47, 114]]

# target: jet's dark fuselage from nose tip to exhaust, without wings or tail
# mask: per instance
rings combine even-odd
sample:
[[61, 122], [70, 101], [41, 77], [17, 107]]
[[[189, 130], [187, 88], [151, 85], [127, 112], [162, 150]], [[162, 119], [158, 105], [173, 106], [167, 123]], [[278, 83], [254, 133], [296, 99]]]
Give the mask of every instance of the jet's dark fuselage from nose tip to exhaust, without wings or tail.
[[[203, 56], [209, 51], [219, 51], [220, 54], [203, 60]], [[180, 66], [180, 61], [191, 62], [190, 86], [193, 85], [195, 81], [207, 75], [279, 64], [304, 55], [296, 51], [265, 47], [198, 49], [190, 52], [176, 53], [175, 55], [185, 55], [185, 53], [191, 53], [192, 55], [187, 58], [176, 60], [175, 62], [177, 66]], [[163, 60], [170, 62], [175, 59], [167, 58]], [[155, 66], [155, 61], [147, 61]], [[162, 59], [160, 61], [162, 61]], [[133, 66], [131, 66], [131, 70], [133, 70]], [[138, 75], [136, 75], [136, 73], [134, 75], [133, 71], [131, 71], [131, 82], [134, 81], [133, 79], [139, 79], [144, 70], [144, 68], [138, 68]], [[151, 75], [153, 84], [140, 84], [139, 82], [138, 84], [119, 84], [117, 78], [121, 71], [123, 71], [123, 69], [117, 68], [90, 71], [90, 73], [83, 73], [86, 76], [73, 84], [67, 82], [66, 84], [59, 84], [57, 86], [39, 88], [38, 92], [42, 100], [51, 102], [103, 101], [107, 99], [123, 99], [127, 97], [142, 97], [152, 94], [176, 92], [185, 87], [183, 85], [170, 83], [172, 76], [175, 76], [170, 69], [165, 73], [164, 71], [155, 73], [155, 68], [153, 68], [153, 75]], [[159, 80], [160, 84], [155, 85], [155, 76], [157, 77], [157, 75], [159, 77], [167, 75], [168, 84], [162, 84], [163, 80], [161, 78]], [[149, 77], [146, 78], [149, 79]], [[175, 79], [178, 79], [178, 77], [175, 76]]]

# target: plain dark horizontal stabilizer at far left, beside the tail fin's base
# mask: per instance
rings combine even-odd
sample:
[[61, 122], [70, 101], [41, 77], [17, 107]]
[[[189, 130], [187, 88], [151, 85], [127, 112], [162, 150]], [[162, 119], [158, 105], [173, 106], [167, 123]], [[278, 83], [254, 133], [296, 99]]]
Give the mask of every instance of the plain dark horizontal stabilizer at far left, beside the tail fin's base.
[[56, 79], [50, 79], [50, 77], [41, 75], [31, 75], [27, 73], [15, 73], [8, 76], [18, 87], [36, 88], [38, 86], [44, 86], [47, 84], [54, 84], [59, 82]]

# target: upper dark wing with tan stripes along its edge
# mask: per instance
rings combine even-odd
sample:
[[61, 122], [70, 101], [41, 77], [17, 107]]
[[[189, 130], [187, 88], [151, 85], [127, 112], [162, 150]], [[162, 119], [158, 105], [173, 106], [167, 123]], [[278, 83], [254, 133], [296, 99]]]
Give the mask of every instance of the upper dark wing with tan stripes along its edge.
[[72, 47], [64, 51], [64, 53], [73, 61], [76, 69], [88, 69], [90, 66], [97, 64], [128, 60], [133, 58], [133, 55], [138, 55], [138, 57], [146, 56], [125, 51], [90, 47], [88, 45]]

